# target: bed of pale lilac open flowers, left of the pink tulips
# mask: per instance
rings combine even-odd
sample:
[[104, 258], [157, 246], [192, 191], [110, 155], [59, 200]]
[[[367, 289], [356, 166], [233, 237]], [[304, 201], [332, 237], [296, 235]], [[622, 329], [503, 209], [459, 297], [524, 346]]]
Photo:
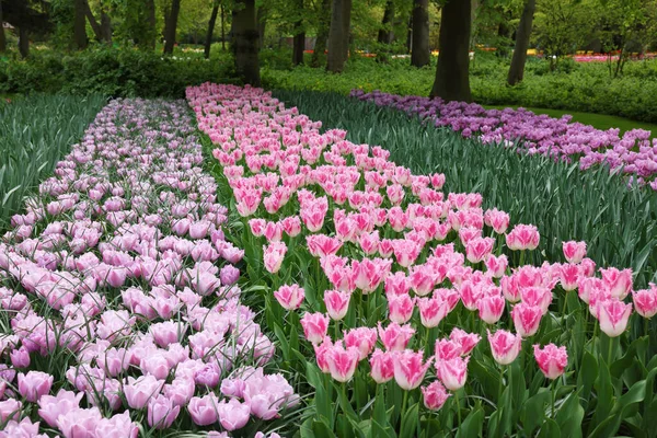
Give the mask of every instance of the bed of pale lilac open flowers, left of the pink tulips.
[[193, 132], [184, 102], [113, 101], [12, 218], [0, 436], [253, 436], [298, 403]]

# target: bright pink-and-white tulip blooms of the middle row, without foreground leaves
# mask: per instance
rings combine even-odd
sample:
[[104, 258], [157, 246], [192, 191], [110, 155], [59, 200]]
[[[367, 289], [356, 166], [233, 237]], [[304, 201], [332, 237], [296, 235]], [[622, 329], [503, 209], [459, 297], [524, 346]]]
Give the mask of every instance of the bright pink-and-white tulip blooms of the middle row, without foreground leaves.
[[[482, 335], [504, 372], [546, 319], [565, 323], [568, 293], [609, 338], [626, 331], [633, 308], [657, 313], [655, 285], [633, 291], [630, 269], [597, 269], [585, 242], [564, 242], [564, 263], [525, 265], [525, 252], [540, 245], [537, 227], [510, 227], [508, 214], [482, 209], [481, 195], [446, 194], [443, 175], [414, 175], [384, 149], [345, 140], [345, 131], [322, 134], [320, 123], [260, 89], [206, 83], [187, 89], [187, 100], [216, 145], [251, 241], [264, 242], [273, 296], [290, 313], [306, 311], [300, 324], [316, 366], [337, 382], [367, 373], [404, 391], [422, 385], [424, 405], [439, 410], [448, 391], [458, 395], [466, 384], [472, 351], [486, 351]], [[321, 278], [300, 276], [296, 261], [306, 254]], [[461, 327], [447, 324], [452, 313]], [[565, 346], [537, 343], [533, 357], [550, 380], [568, 367]]]

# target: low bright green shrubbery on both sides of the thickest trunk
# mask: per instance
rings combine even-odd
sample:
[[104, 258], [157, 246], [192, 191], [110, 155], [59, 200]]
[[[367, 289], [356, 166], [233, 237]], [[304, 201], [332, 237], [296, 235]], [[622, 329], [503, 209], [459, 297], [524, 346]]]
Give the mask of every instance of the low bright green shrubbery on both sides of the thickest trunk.
[[[479, 54], [477, 54], [479, 56]], [[482, 59], [483, 58], [483, 59]], [[435, 58], [433, 60], [435, 62]], [[507, 87], [508, 61], [493, 56], [479, 57], [471, 69], [472, 94], [487, 105], [521, 105], [588, 113], [610, 114], [642, 122], [657, 122], [657, 61], [625, 66], [623, 77], [611, 79], [607, 64], [561, 61], [556, 71], [549, 62], [530, 59], [525, 81]], [[272, 89], [333, 91], [381, 90], [394, 94], [427, 95], [434, 82], [435, 65], [423, 69], [407, 59], [378, 64], [372, 59], [349, 60], [343, 74], [299, 67], [291, 71], [264, 69], [263, 83]]]

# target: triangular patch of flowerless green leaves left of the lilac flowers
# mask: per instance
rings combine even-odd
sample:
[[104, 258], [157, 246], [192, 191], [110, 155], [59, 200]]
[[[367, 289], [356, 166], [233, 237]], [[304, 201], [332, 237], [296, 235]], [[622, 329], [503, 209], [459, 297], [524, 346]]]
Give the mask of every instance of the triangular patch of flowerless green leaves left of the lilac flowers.
[[0, 228], [80, 140], [105, 102], [99, 94], [0, 100]]

